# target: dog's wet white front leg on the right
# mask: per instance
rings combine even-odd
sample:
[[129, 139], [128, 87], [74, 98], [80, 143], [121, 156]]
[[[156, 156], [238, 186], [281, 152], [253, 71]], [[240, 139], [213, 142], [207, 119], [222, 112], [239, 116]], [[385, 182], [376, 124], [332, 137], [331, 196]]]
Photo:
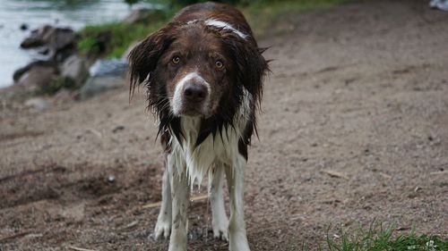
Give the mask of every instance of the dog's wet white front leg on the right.
[[233, 166], [226, 166], [228, 195], [230, 197], [230, 222], [228, 223], [228, 249], [250, 251], [246, 237], [244, 212], [244, 181], [246, 159], [237, 155]]

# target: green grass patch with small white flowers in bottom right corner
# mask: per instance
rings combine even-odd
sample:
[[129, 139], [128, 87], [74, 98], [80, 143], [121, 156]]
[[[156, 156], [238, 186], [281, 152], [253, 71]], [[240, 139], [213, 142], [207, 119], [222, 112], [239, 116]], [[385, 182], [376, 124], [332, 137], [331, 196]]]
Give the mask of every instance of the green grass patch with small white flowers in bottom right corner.
[[[330, 231], [330, 230], [329, 230]], [[313, 250], [306, 246], [303, 251]], [[384, 227], [373, 222], [368, 229], [359, 227], [355, 233], [343, 230], [337, 235], [327, 235], [325, 243], [317, 251], [447, 251], [448, 239], [438, 236], [417, 235], [415, 230], [398, 233], [394, 225]]]

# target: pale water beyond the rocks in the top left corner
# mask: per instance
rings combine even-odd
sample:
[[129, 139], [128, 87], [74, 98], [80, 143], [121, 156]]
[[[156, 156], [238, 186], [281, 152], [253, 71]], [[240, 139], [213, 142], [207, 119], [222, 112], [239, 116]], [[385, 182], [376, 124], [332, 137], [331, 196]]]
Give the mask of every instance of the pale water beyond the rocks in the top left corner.
[[[132, 6], [139, 7], [160, 5], [141, 1]], [[86, 24], [120, 21], [130, 11], [123, 0], [0, 0], [0, 88], [12, 85], [13, 71], [38, 56], [20, 48], [30, 30], [44, 24], [82, 29]], [[22, 24], [29, 29], [21, 30]]]

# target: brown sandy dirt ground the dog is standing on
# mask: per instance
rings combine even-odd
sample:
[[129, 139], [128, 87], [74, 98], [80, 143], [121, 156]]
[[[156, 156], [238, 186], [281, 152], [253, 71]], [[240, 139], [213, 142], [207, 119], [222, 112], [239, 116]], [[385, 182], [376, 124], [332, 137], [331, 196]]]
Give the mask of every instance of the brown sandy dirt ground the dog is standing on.
[[[374, 220], [448, 238], [448, 13], [426, 4], [289, 16], [260, 41], [274, 61], [246, 171], [252, 250], [316, 247], [330, 226]], [[2, 102], [0, 250], [167, 249], [149, 238], [159, 209], [142, 207], [160, 200], [163, 158], [140, 93]], [[191, 203], [189, 250], [228, 248], [209, 210]]]

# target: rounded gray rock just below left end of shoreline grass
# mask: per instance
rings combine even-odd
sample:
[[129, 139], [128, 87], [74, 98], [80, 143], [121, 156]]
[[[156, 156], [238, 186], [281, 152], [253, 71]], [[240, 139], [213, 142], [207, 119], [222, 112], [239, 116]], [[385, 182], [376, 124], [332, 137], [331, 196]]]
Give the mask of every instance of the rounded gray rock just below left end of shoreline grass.
[[81, 87], [89, 78], [86, 61], [75, 54], [70, 56], [61, 66], [61, 76], [73, 79], [76, 86]]

